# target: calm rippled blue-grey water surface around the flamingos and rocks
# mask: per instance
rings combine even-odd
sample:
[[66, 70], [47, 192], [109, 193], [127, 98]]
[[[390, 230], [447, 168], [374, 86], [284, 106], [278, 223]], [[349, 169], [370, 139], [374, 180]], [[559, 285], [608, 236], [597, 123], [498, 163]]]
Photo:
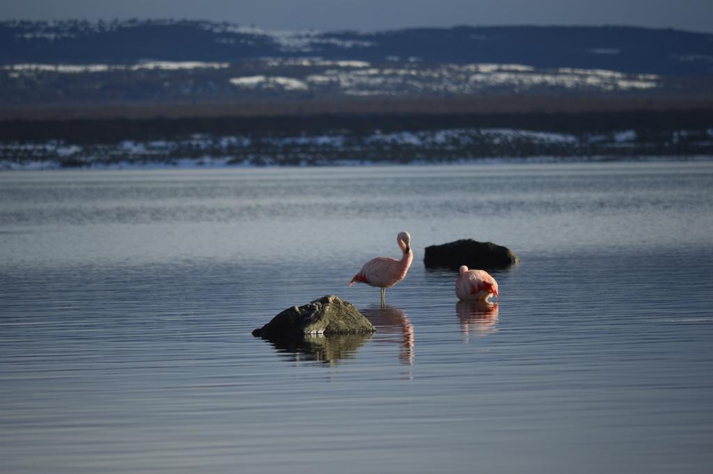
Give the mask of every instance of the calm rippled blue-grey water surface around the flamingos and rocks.
[[[1, 471], [709, 473], [712, 232], [707, 162], [1, 174]], [[250, 335], [324, 294], [379, 331]]]

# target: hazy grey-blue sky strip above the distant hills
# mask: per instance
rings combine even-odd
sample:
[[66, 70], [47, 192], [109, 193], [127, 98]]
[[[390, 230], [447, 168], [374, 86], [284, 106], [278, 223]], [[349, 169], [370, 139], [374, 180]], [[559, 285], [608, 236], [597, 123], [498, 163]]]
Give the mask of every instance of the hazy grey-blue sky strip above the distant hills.
[[265, 29], [632, 25], [713, 32], [713, 0], [0, 0], [0, 19], [207, 19]]

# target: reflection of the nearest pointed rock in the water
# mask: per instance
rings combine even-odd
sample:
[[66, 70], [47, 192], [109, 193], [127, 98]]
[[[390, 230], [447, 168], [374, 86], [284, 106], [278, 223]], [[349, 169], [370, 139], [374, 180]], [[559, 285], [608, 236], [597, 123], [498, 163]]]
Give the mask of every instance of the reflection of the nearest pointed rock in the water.
[[280, 352], [294, 354], [293, 361], [319, 361], [336, 364], [351, 359], [359, 347], [371, 339], [371, 334], [323, 334], [304, 337], [267, 339]]

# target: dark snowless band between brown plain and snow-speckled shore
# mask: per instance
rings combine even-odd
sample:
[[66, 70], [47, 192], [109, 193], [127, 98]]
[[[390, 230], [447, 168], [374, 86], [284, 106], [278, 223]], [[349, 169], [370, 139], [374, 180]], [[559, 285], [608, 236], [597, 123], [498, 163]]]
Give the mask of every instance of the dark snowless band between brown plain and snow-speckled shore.
[[581, 135], [636, 130], [641, 136], [674, 130], [713, 128], [712, 109], [621, 110], [580, 113], [321, 113], [253, 117], [104, 118], [70, 120], [2, 120], [0, 141], [115, 143], [120, 140], [172, 140], [192, 134], [215, 136], [320, 135], [348, 130], [367, 135], [379, 130], [513, 128]]

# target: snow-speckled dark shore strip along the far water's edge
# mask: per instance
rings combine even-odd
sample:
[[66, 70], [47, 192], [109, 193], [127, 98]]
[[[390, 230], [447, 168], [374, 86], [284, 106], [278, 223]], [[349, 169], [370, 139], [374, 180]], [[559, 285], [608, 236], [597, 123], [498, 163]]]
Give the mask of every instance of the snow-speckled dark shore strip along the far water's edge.
[[[364, 125], [367, 125], [364, 123]], [[517, 160], [640, 160], [713, 155], [713, 127], [552, 131], [468, 126], [466, 123], [369, 123], [368, 126], [272, 131], [237, 129], [84, 140], [0, 139], [0, 169], [198, 168], [379, 165], [409, 163], [516, 163]], [[407, 125], [414, 125], [413, 127]], [[420, 126], [419, 126], [420, 125]], [[441, 125], [441, 126], [438, 126]], [[463, 127], [453, 125], [466, 125]], [[118, 128], [118, 127], [117, 127]]]

